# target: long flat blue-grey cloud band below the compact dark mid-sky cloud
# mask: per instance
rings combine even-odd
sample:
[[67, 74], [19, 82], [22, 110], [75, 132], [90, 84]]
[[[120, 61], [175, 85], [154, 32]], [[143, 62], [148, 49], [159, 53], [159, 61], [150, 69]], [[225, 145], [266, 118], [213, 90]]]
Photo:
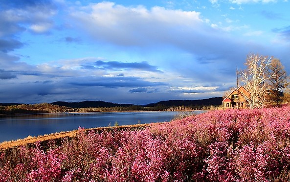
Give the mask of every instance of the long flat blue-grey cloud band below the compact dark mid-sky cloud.
[[68, 84], [77, 86], [102, 86], [108, 88], [118, 87], [145, 87], [165, 85], [163, 82], [144, 81], [136, 77], [98, 77], [98, 78], [75, 78]]

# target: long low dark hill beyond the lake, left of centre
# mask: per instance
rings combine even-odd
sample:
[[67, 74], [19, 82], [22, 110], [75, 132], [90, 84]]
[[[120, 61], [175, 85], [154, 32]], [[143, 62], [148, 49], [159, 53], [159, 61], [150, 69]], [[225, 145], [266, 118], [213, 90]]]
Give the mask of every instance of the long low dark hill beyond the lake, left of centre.
[[65, 102], [65, 101], [56, 101], [52, 102], [53, 105], [67, 106], [71, 108], [88, 108], [88, 107], [129, 107], [134, 104], [119, 104], [105, 101], [81, 101], [81, 102]]

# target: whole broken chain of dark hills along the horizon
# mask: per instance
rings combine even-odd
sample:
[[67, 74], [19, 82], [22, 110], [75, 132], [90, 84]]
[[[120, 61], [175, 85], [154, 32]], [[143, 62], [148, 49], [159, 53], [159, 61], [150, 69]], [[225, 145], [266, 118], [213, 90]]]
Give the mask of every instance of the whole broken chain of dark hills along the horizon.
[[[208, 99], [200, 99], [200, 100], [169, 100], [169, 101], [159, 101], [156, 103], [149, 103], [145, 105], [141, 105], [144, 107], [156, 107], [159, 105], [168, 106], [168, 107], [177, 107], [177, 106], [197, 106], [197, 105], [221, 105], [223, 101], [222, 97], [214, 97]], [[22, 103], [0, 103], [1, 106], [7, 105], [21, 105]], [[66, 102], [66, 101], [56, 101], [52, 102], [53, 105], [59, 106], [67, 106], [71, 108], [89, 108], [89, 107], [130, 107], [134, 106], [134, 104], [119, 104], [119, 103], [112, 103], [106, 101], [81, 101], [81, 102]]]

